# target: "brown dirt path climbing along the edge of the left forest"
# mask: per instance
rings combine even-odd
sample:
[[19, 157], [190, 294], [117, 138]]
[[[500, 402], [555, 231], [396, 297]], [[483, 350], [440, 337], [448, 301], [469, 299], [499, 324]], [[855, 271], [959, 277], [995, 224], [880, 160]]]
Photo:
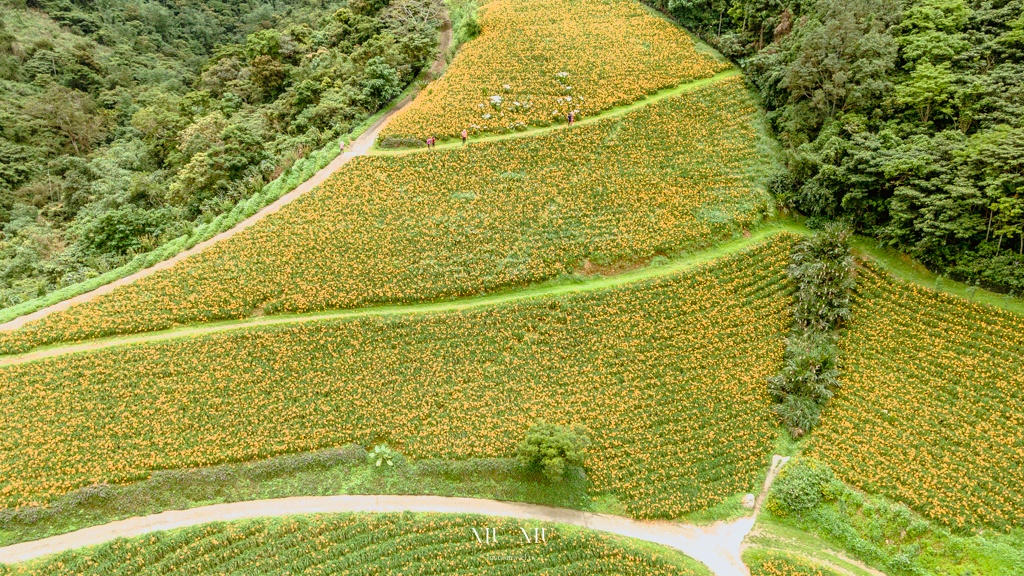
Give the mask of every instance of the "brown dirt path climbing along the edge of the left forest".
[[[451, 45], [452, 45], [452, 24], [449, 23], [447, 18], [445, 17], [444, 26], [441, 28], [440, 31], [440, 41], [437, 47], [437, 57], [430, 66], [430, 70], [428, 72], [428, 80], [436, 79], [441, 74], [441, 72], [444, 71], [445, 56], [447, 55], [449, 46]], [[307, 192], [322, 184], [324, 180], [328, 179], [331, 176], [331, 174], [338, 171], [345, 164], [348, 164], [348, 162], [351, 159], [355, 158], [356, 156], [365, 156], [368, 152], [370, 152], [370, 149], [373, 148], [374, 140], [377, 139], [377, 134], [380, 133], [380, 131], [384, 128], [384, 126], [387, 126], [387, 123], [391, 120], [391, 118], [394, 117], [394, 114], [396, 112], [408, 106], [409, 102], [413, 101], [415, 95], [416, 94], [413, 93], [402, 98], [401, 101], [395, 105], [387, 114], [382, 116], [369, 129], [367, 129], [366, 132], [360, 134], [359, 137], [355, 138], [348, 147], [346, 147], [344, 154], [335, 158], [330, 164], [321, 169], [321, 171], [313, 174], [311, 178], [302, 182], [301, 184], [296, 187], [295, 190], [282, 196], [273, 203], [268, 204], [259, 212], [256, 212], [252, 216], [249, 216], [248, 218], [242, 220], [230, 230], [226, 230], [209, 240], [200, 242], [199, 244], [193, 246], [191, 248], [188, 248], [187, 250], [178, 252], [177, 255], [175, 256], [157, 262], [156, 264], [147, 269], [140, 270], [135, 274], [126, 276], [119, 280], [115, 280], [114, 282], [104, 284], [84, 294], [79, 294], [78, 296], [68, 298], [67, 300], [61, 300], [55, 304], [46, 306], [42, 310], [38, 310], [32, 314], [20, 316], [18, 318], [15, 318], [14, 320], [11, 320], [10, 322], [5, 322], [3, 324], [0, 324], [0, 330], [15, 330], [29, 322], [39, 320], [55, 312], [68, 310], [69, 307], [75, 304], [87, 302], [95, 298], [96, 296], [100, 296], [102, 294], [109, 294], [110, 292], [113, 292], [114, 290], [116, 290], [121, 286], [124, 286], [126, 284], [131, 284], [132, 282], [135, 282], [136, 280], [139, 280], [141, 278], [145, 278], [146, 276], [150, 276], [158, 271], [167, 270], [173, 266], [174, 264], [180, 262], [181, 260], [187, 258], [188, 256], [191, 256], [193, 254], [198, 254], [218, 242], [227, 240], [228, 238], [239, 234], [240, 232], [255, 224], [256, 222], [262, 220], [263, 218], [269, 216], [270, 214], [281, 210], [288, 204], [294, 202], [295, 199], [299, 198], [300, 196], [306, 194]]]

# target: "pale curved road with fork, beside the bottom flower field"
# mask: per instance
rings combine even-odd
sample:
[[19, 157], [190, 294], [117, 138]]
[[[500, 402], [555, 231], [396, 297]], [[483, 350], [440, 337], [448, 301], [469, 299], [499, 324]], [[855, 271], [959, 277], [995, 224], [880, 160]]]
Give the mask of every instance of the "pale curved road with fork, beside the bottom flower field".
[[732, 522], [693, 526], [668, 521], [638, 521], [612, 515], [585, 512], [538, 504], [503, 502], [480, 498], [444, 496], [297, 496], [214, 504], [187, 510], [170, 510], [136, 517], [69, 534], [0, 548], [0, 564], [27, 562], [115, 538], [132, 538], [160, 530], [174, 530], [211, 522], [230, 522], [262, 517], [338, 512], [438, 512], [478, 513], [520, 520], [570, 524], [590, 530], [618, 534], [670, 546], [707, 565], [717, 576], [748, 576], [740, 560], [743, 538], [754, 528], [761, 504], [772, 481], [788, 458], [772, 456], [771, 468], [757, 498], [752, 516]]

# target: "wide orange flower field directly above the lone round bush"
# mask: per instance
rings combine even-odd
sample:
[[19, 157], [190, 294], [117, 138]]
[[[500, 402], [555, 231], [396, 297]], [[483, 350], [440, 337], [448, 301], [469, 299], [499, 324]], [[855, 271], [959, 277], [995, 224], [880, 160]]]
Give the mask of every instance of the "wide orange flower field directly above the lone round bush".
[[[754, 491], [795, 239], [672, 276], [443, 315], [240, 330], [0, 369], [0, 503], [352, 442], [510, 456], [537, 420], [593, 433], [636, 517]], [[54, 450], [54, 446], [61, 447]]]

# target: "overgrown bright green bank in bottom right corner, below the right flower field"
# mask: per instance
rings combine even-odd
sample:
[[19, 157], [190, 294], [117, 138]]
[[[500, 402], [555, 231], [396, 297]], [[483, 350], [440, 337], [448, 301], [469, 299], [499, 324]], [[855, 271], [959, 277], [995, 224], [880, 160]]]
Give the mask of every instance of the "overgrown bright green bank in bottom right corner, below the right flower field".
[[877, 574], [869, 565], [890, 576], [1024, 575], [1019, 527], [953, 532], [905, 504], [851, 489], [807, 457], [783, 468], [750, 541], [854, 574]]

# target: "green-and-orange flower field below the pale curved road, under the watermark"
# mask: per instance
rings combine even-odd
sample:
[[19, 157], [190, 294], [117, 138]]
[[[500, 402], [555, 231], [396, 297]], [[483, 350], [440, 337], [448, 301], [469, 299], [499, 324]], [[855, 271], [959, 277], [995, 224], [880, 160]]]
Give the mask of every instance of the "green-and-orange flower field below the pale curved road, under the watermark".
[[[501, 536], [478, 544], [484, 527]], [[527, 544], [545, 529], [546, 541]], [[669, 548], [574, 527], [456, 515], [315, 515], [215, 523], [120, 539], [0, 574], [711, 574]]]

